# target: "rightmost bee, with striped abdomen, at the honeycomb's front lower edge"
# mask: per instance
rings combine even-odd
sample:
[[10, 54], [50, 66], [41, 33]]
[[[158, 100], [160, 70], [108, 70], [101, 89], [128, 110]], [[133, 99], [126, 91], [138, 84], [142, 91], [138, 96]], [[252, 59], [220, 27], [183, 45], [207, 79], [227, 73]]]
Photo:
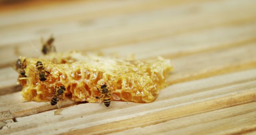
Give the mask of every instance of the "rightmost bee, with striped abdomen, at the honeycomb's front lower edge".
[[[96, 87], [98, 89], [98, 87]], [[100, 99], [103, 97], [103, 102], [106, 107], [110, 105], [110, 96], [112, 95], [115, 100], [120, 100], [120, 97], [114, 93], [112, 93], [110, 90], [108, 90], [107, 85], [103, 84], [101, 85], [101, 91], [98, 89], [98, 91], [101, 93], [100, 97], [96, 97], [96, 99]]]

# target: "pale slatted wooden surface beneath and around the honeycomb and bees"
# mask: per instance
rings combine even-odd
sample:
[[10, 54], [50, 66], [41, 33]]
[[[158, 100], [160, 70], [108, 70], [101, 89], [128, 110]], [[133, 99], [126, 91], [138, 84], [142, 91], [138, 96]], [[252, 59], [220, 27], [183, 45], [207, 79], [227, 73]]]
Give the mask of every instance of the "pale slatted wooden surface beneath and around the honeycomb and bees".
[[[0, 2], [0, 134], [256, 134], [255, 0]], [[9, 65], [52, 33], [58, 52], [169, 58], [169, 85], [146, 104], [23, 101]]]

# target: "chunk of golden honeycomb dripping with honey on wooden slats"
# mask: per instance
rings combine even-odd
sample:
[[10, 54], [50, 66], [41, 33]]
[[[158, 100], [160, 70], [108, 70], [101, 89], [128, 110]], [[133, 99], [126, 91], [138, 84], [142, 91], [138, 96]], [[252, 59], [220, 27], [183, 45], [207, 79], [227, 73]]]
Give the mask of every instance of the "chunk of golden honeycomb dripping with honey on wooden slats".
[[[38, 60], [51, 74], [46, 81], [38, 78]], [[121, 101], [148, 103], [154, 101], [160, 89], [165, 87], [166, 77], [172, 70], [170, 60], [161, 57], [139, 61], [79, 52], [26, 58], [26, 64], [27, 77], [20, 78], [19, 82], [23, 86], [23, 98], [27, 101], [49, 101], [46, 97], [55, 91], [55, 86], [64, 85], [65, 95], [72, 95], [74, 101], [96, 102], [98, 99], [95, 97], [100, 96], [96, 87], [106, 84], [112, 93], [120, 96]]]

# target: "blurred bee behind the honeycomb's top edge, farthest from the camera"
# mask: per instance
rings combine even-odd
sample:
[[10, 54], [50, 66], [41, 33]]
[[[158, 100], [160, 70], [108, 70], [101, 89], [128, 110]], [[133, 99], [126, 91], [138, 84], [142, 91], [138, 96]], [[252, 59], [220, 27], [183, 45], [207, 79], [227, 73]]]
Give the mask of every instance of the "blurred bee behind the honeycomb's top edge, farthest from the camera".
[[44, 42], [44, 39], [41, 38], [41, 43], [42, 43], [42, 53], [43, 54], [48, 54], [50, 52], [56, 52], [56, 48], [55, 46], [52, 44], [54, 42], [54, 38], [52, 37], [52, 35], [50, 36], [50, 38]]

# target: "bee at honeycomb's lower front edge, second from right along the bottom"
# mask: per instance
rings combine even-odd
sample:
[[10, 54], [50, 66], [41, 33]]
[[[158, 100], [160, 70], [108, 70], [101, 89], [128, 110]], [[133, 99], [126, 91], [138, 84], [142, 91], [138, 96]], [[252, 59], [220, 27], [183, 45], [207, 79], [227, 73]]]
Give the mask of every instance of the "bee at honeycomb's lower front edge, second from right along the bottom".
[[51, 105], [56, 105], [60, 108], [62, 105], [62, 99], [64, 98], [64, 92], [66, 91], [66, 88], [64, 86], [56, 87], [56, 91], [54, 93], [51, 93], [47, 96], [48, 99], [51, 100]]

